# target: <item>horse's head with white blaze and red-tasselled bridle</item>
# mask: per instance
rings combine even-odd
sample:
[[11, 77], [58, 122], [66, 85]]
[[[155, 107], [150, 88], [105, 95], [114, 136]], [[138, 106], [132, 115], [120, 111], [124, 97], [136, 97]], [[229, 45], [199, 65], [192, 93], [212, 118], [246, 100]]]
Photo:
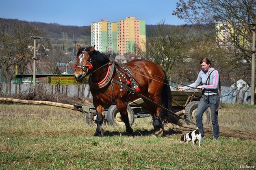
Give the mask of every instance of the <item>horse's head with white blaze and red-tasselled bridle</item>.
[[77, 45], [78, 52], [76, 54], [76, 64], [74, 65], [76, 81], [82, 81], [85, 76], [92, 72], [93, 64], [89, 53], [94, 50], [94, 47], [95, 45], [93, 47], [81, 48], [80, 45]]

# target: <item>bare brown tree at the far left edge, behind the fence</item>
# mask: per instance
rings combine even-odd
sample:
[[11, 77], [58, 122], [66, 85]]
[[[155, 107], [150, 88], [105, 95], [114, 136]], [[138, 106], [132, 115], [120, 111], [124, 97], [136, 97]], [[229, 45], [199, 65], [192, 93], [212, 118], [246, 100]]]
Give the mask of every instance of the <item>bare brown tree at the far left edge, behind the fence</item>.
[[[2, 76], [11, 83], [15, 74], [24, 74], [26, 65], [32, 61], [34, 42], [31, 36], [44, 36], [37, 28], [18, 20], [9, 22], [0, 18], [0, 66]], [[41, 38], [37, 44], [49, 47]]]

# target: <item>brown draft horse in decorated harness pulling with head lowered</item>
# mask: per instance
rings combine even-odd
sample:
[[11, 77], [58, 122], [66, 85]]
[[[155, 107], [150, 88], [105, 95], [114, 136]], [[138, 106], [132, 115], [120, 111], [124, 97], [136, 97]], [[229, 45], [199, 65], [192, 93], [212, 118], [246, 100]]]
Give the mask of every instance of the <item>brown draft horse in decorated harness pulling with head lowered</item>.
[[[134, 136], [129, 123], [126, 104], [128, 101], [139, 97], [136, 92], [128, 91], [124, 87], [125, 85], [157, 104], [171, 109], [169, 82], [165, 71], [155, 63], [145, 60], [132, 60], [126, 64], [119, 64], [113, 62], [111, 57], [96, 51], [94, 47], [81, 48], [80, 45], [77, 47], [74, 77], [76, 81], [82, 81], [85, 76], [90, 75], [89, 85], [93, 96], [93, 105], [97, 112], [95, 136], [103, 136], [102, 123], [106, 104], [115, 104], [117, 106], [122, 121], [126, 125], [126, 132], [128, 132], [129, 136]], [[115, 82], [113, 82], [114, 79], [116, 80]], [[119, 83], [116, 83], [117, 81]], [[161, 116], [168, 113], [148, 100], [144, 100], [144, 102], [152, 113], [154, 134], [162, 136], [163, 123]], [[171, 121], [177, 123], [178, 118], [171, 115]]]

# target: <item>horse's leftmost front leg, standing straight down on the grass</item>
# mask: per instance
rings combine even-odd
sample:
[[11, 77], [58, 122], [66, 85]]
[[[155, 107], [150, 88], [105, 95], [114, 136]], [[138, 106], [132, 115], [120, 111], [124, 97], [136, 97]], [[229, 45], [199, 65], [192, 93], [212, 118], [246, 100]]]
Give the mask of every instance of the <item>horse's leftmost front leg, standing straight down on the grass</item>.
[[101, 106], [100, 104], [93, 101], [93, 105], [95, 107], [96, 113], [97, 113], [97, 119], [96, 119], [96, 132], [94, 136], [104, 136], [102, 134], [102, 124], [104, 121], [104, 106]]

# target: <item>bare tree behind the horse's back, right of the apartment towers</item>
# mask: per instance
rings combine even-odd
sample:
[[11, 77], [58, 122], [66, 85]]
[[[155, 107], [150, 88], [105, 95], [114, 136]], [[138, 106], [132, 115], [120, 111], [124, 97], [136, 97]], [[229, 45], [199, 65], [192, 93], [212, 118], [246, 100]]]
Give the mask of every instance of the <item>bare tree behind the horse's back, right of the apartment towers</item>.
[[146, 40], [146, 52], [140, 51], [140, 56], [155, 62], [170, 75], [172, 67], [182, 63], [181, 54], [189, 40], [187, 33], [185, 27], [166, 25], [162, 20], [156, 28], [148, 30], [150, 38]]

